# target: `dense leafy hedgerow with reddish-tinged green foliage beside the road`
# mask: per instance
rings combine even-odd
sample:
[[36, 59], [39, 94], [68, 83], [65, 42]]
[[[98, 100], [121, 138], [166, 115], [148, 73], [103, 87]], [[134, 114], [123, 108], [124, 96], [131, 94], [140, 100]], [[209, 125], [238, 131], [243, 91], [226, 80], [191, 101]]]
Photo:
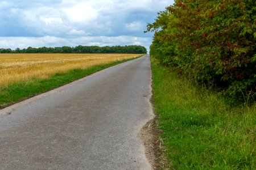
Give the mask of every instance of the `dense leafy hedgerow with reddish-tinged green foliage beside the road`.
[[255, 100], [256, 1], [177, 0], [158, 13], [150, 54], [199, 84]]

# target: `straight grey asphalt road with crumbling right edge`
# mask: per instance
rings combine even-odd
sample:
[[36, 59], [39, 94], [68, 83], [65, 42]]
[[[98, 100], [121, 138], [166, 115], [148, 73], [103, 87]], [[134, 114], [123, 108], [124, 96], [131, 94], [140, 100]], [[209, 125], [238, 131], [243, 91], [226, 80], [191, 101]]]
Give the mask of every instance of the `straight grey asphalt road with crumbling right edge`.
[[0, 169], [151, 169], [148, 55], [0, 111]]

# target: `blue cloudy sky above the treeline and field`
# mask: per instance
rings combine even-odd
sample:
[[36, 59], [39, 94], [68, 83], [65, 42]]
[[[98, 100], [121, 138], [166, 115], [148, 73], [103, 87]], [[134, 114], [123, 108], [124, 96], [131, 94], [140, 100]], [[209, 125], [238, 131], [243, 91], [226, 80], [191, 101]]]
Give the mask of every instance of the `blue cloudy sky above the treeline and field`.
[[143, 45], [164, 0], [0, 1], [0, 48]]

